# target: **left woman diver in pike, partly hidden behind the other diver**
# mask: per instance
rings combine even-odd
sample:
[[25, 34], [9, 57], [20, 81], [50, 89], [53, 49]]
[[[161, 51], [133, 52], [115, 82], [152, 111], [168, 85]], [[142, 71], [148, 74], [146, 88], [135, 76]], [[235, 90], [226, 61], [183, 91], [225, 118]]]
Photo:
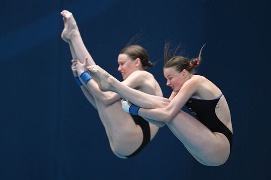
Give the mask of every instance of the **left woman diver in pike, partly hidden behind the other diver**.
[[[97, 83], [86, 72], [86, 66], [95, 65], [95, 62], [83, 43], [72, 13], [64, 10], [61, 15], [65, 25], [62, 38], [70, 47], [74, 78], [86, 98], [97, 109], [111, 150], [120, 158], [135, 156], [154, 138], [158, 126], [165, 123], [149, 120], [156, 124], [154, 125], [140, 116], [124, 112], [120, 95], [115, 92], [102, 92], [99, 89]], [[151, 73], [145, 71], [147, 67], [152, 67], [153, 63], [143, 47], [131, 45], [122, 49], [118, 56], [118, 64], [118, 71], [124, 80], [121, 84], [163, 99], [159, 84]]]

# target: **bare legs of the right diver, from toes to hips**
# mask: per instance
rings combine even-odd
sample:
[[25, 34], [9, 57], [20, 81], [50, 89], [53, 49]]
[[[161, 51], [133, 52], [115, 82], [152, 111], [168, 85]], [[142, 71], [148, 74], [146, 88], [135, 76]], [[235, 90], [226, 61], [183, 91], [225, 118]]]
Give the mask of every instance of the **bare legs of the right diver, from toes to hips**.
[[[99, 66], [90, 66], [88, 69], [94, 80], [98, 82], [100, 89], [117, 92], [142, 108], [151, 108], [147, 107], [151, 106], [148, 102], [155, 102], [159, 98], [158, 96], [152, 96], [123, 86]], [[147, 102], [144, 102], [144, 100], [147, 100]], [[223, 164], [228, 159], [230, 153], [228, 139], [221, 133], [211, 132], [191, 115], [180, 111], [173, 120], [167, 122], [167, 125], [200, 163], [217, 166]]]

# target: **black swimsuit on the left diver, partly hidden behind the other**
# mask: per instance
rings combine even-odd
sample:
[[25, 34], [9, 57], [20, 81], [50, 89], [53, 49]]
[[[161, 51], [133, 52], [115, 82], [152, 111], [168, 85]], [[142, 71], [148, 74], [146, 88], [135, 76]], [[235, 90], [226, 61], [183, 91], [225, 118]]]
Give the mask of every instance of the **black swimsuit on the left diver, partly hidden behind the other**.
[[130, 155], [127, 155], [125, 157], [134, 157], [137, 153], [139, 153], [141, 150], [143, 150], [143, 148], [150, 142], [151, 140], [151, 130], [150, 130], [150, 124], [148, 121], [144, 120], [141, 116], [134, 116], [131, 115], [133, 120], [135, 121], [135, 124], [139, 125], [142, 129], [143, 132], [143, 141], [140, 145], [140, 147], [135, 150], [135, 152], [133, 152]]

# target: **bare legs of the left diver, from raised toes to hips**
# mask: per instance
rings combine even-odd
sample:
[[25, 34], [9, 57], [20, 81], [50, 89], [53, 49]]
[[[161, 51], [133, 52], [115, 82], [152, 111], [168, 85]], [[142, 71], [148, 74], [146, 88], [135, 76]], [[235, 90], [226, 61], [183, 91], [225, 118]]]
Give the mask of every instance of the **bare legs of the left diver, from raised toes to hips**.
[[[85, 57], [88, 57], [88, 65], [95, 64], [89, 55], [86, 47], [83, 44], [80, 33], [78, 31], [76, 22], [72, 14], [68, 11], [63, 11], [65, 28], [62, 33], [62, 38], [69, 43], [71, 53], [83, 62]], [[98, 89], [97, 84], [91, 80], [93, 84], [92, 90], [89, 92], [95, 93], [95, 88]], [[95, 87], [96, 86], [96, 87]], [[85, 87], [83, 87], [85, 88]], [[99, 89], [98, 89], [99, 90]], [[99, 90], [100, 91], [100, 90]], [[101, 92], [101, 91], [100, 91]], [[139, 148], [143, 141], [143, 133], [139, 125], [135, 124], [131, 115], [122, 110], [120, 101], [116, 101], [110, 105], [104, 104], [99, 98], [99, 95], [94, 96], [96, 107], [105, 128], [106, 135], [109, 140], [112, 151], [120, 158], [126, 158], [125, 155], [132, 154]], [[158, 131], [158, 127], [150, 124], [151, 139]]]

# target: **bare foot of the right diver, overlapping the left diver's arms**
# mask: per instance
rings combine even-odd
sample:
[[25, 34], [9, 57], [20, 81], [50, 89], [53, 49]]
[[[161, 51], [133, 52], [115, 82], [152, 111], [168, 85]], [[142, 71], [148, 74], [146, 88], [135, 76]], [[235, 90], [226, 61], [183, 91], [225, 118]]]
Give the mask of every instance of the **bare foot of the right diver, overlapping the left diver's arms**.
[[111, 83], [114, 80], [114, 77], [111, 76], [108, 72], [103, 70], [99, 65], [91, 65], [87, 67], [87, 71], [98, 84], [100, 90], [102, 91], [111, 91]]

